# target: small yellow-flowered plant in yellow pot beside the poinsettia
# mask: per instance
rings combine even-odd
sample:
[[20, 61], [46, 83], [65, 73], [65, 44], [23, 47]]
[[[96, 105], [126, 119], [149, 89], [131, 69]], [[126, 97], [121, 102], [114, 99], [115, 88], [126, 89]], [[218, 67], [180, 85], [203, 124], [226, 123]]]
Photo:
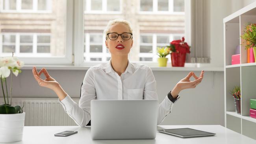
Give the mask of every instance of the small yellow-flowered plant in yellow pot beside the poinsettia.
[[157, 55], [159, 56], [158, 58], [158, 66], [160, 67], [164, 67], [167, 65], [167, 60], [168, 58], [166, 58], [166, 55], [170, 54], [170, 50], [167, 47], [158, 47], [157, 48]]

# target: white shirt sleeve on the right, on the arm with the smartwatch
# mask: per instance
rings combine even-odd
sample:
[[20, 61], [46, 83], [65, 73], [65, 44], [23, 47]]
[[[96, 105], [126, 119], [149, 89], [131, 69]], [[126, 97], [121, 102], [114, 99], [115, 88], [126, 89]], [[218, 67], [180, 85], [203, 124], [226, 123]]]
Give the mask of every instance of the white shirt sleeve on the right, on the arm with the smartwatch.
[[[156, 92], [156, 80], [153, 75], [151, 68], [148, 67], [145, 78], [145, 87], [144, 87], [144, 99], [146, 100], [158, 100], [158, 94]], [[171, 113], [173, 108], [173, 102], [169, 100], [167, 95], [163, 101], [158, 106], [158, 120], [157, 124], [163, 122], [164, 118]]]

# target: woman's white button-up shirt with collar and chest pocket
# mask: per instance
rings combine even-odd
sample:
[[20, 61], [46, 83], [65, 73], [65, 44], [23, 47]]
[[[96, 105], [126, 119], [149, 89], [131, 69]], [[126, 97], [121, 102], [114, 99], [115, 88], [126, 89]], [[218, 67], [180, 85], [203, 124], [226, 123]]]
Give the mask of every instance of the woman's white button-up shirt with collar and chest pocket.
[[[91, 100], [158, 100], [156, 80], [150, 67], [130, 63], [119, 76], [108, 63], [90, 67], [83, 79], [79, 104], [69, 95], [59, 101], [65, 112], [79, 126], [86, 126], [91, 120]], [[171, 113], [173, 102], [165, 96], [158, 107], [158, 124]]]

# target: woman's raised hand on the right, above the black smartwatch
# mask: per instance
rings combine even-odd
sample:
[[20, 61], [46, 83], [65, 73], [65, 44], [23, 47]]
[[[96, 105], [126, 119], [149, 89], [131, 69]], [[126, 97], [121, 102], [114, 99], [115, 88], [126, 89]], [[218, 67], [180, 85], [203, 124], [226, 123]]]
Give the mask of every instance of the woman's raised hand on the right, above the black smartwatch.
[[[189, 79], [193, 76], [195, 78], [194, 81], [190, 81]], [[183, 89], [191, 89], [197, 87], [199, 83], [201, 83], [202, 79], [204, 78], [204, 70], [202, 70], [201, 74], [199, 77], [195, 75], [194, 72], [189, 72], [189, 74], [186, 76], [186, 78], [180, 80], [176, 87], [178, 89], [183, 90]]]

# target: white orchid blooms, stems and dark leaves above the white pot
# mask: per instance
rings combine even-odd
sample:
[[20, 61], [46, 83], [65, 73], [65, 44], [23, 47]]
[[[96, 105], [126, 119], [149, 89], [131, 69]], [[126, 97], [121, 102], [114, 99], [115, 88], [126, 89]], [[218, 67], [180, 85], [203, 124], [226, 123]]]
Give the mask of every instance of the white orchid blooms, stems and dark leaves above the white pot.
[[[0, 79], [1, 79], [1, 85], [2, 85], [2, 92], [4, 96], [4, 104], [0, 105], [0, 114], [23, 113], [22, 109], [24, 107], [24, 103], [22, 107], [20, 107], [19, 105], [16, 105], [13, 107], [11, 105], [12, 90], [13, 90], [12, 75], [14, 74], [15, 76], [18, 76], [18, 74], [21, 72], [20, 68], [23, 65], [24, 65], [24, 62], [19, 61], [17, 57], [0, 57]], [[6, 78], [9, 77], [10, 74], [11, 74], [11, 89], [10, 89], [10, 102], [9, 102]], [[6, 88], [6, 94], [4, 90], [4, 83]]]

